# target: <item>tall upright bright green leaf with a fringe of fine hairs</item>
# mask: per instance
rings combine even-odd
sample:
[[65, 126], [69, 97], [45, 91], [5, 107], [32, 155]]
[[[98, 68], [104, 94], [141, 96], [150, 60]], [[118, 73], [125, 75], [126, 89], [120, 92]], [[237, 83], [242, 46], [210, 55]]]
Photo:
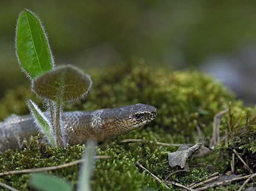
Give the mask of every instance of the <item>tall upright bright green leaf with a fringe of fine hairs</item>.
[[36, 78], [53, 69], [52, 54], [43, 27], [32, 12], [20, 13], [16, 28], [16, 54], [23, 71]]

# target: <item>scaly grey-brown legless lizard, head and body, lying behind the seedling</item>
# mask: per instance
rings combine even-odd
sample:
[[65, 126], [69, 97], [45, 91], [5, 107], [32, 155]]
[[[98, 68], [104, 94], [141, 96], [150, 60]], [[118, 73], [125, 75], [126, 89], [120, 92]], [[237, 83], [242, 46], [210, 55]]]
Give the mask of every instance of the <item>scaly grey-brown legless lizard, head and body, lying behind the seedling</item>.
[[[76, 145], [88, 139], [100, 142], [128, 133], [151, 122], [156, 114], [155, 107], [135, 104], [112, 109], [64, 112], [62, 120], [67, 143]], [[0, 122], [0, 153], [9, 148], [21, 148], [24, 139], [36, 136], [38, 132], [31, 116], [9, 116]]]

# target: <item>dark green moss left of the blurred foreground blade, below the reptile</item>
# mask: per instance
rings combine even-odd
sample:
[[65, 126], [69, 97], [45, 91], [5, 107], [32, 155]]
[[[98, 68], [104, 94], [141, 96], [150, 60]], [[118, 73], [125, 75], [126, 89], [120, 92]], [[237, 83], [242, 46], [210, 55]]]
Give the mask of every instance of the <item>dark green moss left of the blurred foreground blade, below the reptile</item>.
[[[82, 156], [84, 145], [68, 146], [67, 149], [52, 148], [47, 144], [38, 142], [39, 137], [29, 139], [25, 143], [28, 148], [24, 148], [23, 151], [6, 150], [0, 155], [0, 172], [60, 165], [80, 159]], [[79, 165], [75, 165], [47, 173], [63, 177], [64, 180], [70, 181], [74, 185], [78, 171]], [[2, 176], [0, 182], [11, 185], [18, 190], [28, 191], [32, 189], [29, 185], [29, 176], [30, 174]]]

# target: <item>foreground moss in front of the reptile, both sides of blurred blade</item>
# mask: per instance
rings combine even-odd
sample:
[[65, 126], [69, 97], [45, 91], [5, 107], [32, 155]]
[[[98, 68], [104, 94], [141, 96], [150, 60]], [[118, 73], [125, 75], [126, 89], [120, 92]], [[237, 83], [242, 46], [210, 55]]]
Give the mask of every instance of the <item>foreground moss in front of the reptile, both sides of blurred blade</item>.
[[[140, 133], [142, 135], [154, 135], [154, 132], [150, 129], [142, 130]], [[126, 139], [132, 136], [129, 134], [122, 135], [119, 138]], [[149, 136], [145, 136], [144, 139], [149, 139]], [[30, 145], [29, 149], [25, 148], [21, 152], [7, 150], [3, 155], [0, 155], [0, 158], [2, 158], [0, 160], [0, 171], [60, 165], [80, 159], [84, 150], [84, 145], [68, 146], [66, 150], [51, 148], [47, 144], [38, 142], [38, 137], [29, 139], [27, 145]], [[139, 161], [141, 165], [157, 175], [157, 177], [164, 179], [169, 174], [166, 170], [171, 170], [164, 163], [167, 159], [167, 152], [174, 150], [175, 148], [173, 147], [160, 148], [155, 143], [147, 141], [120, 144], [114, 138], [108, 139], [98, 146], [96, 154], [109, 155], [111, 158], [96, 160], [96, 168], [91, 181], [93, 190], [134, 191], [141, 190], [142, 188], [165, 190], [163, 185], [157, 183], [153, 177], [145, 173], [141, 168], [138, 168], [134, 162]], [[67, 182], [71, 182], [75, 188], [79, 167], [80, 165], [74, 165], [47, 173], [62, 177]], [[195, 171], [196, 169], [192, 172], [195, 173]], [[203, 174], [207, 174], [206, 170], [201, 169], [200, 171], [200, 177]], [[0, 177], [0, 181], [19, 190], [28, 191], [32, 189], [29, 185], [29, 176], [30, 174], [8, 175]], [[184, 181], [184, 176], [185, 174], [179, 177], [180, 181]], [[196, 179], [196, 176], [192, 177], [191, 174], [188, 177], [187, 182]]]

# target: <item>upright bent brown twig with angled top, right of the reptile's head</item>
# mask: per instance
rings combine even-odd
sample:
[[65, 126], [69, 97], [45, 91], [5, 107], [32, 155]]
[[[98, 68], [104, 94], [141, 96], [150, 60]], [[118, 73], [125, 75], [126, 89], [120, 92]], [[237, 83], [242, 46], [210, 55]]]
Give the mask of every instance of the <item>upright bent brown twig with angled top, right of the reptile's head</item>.
[[229, 111], [229, 109], [226, 110], [222, 110], [219, 113], [216, 113], [214, 118], [213, 118], [213, 133], [212, 133], [212, 139], [209, 145], [209, 148], [214, 148], [218, 143], [218, 139], [220, 137], [219, 134], [219, 126], [221, 124], [221, 117], [224, 113], [227, 113]]

